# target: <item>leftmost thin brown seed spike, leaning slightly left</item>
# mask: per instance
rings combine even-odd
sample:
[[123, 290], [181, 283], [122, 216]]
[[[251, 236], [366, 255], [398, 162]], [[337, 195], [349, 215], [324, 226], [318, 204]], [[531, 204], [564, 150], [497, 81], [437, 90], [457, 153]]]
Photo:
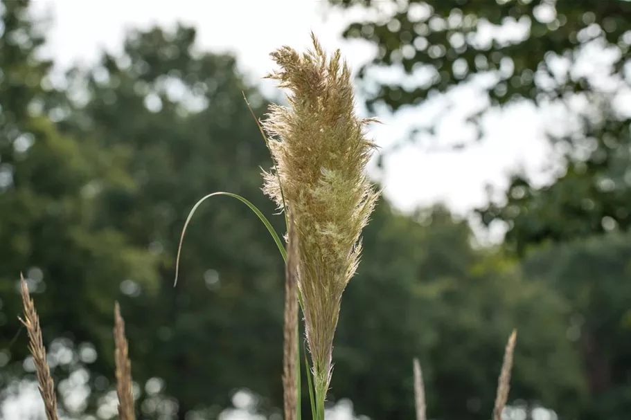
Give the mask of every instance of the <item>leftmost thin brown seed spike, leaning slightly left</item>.
[[55, 383], [51, 376], [51, 369], [46, 362], [46, 348], [42, 340], [42, 329], [39, 327], [39, 317], [35, 311], [35, 304], [28, 294], [28, 286], [24, 276], [20, 273], [20, 293], [22, 305], [24, 306], [24, 319], [20, 322], [26, 327], [28, 332], [28, 349], [33, 355], [35, 371], [37, 372], [37, 382], [39, 383], [39, 394], [44, 400], [46, 419], [57, 420], [57, 397], [55, 396]]

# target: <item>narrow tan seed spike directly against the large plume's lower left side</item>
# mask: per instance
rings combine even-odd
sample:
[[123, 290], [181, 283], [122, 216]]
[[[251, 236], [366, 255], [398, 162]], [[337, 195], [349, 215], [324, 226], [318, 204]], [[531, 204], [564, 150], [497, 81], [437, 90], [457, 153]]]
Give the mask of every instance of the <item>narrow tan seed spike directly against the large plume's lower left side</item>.
[[298, 246], [294, 220], [289, 218], [285, 266], [285, 344], [283, 346], [283, 397], [285, 420], [296, 420], [298, 409]]

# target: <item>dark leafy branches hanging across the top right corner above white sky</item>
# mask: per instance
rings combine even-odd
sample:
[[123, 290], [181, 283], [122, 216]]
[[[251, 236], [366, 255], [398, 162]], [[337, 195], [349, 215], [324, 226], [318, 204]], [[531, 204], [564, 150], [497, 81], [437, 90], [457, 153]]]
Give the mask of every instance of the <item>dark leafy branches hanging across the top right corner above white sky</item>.
[[[364, 39], [378, 47], [373, 61], [360, 72], [362, 80], [374, 82], [368, 80], [368, 73], [380, 66], [402, 69], [406, 74], [429, 72], [421, 86], [411, 89], [404, 86], [404, 78], [377, 82], [377, 88], [369, 92], [368, 105], [380, 102], [393, 110], [418, 104], [429, 93], [447, 91], [485, 73], [499, 75], [497, 85], [492, 84], [488, 92], [496, 104], [515, 98], [543, 101], [568, 91], [589, 90], [592, 86], [587, 77], [562, 75], [544, 85], [537, 75], [554, 76], [551, 61], [555, 55], [574, 61], [580, 48], [594, 39], [602, 39], [621, 53], [614, 65], [614, 73], [621, 73], [631, 44], [631, 23], [625, 19], [631, 14], [631, 3], [625, 0], [330, 3], [373, 12], [361, 14], [366, 18], [353, 21], [344, 32], [350, 39]], [[509, 26], [513, 35], [491, 35], [499, 27]], [[485, 35], [474, 40], [482, 32]]]

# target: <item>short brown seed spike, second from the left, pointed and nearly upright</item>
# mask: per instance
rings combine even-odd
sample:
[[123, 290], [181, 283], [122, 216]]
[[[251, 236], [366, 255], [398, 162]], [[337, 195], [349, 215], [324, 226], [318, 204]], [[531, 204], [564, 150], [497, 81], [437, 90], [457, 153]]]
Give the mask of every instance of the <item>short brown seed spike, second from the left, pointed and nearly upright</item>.
[[118, 395], [118, 417], [121, 420], [134, 420], [134, 393], [132, 392], [132, 362], [129, 358], [125, 321], [121, 316], [118, 302], [114, 304], [114, 342], [116, 349], [116, 394]]

